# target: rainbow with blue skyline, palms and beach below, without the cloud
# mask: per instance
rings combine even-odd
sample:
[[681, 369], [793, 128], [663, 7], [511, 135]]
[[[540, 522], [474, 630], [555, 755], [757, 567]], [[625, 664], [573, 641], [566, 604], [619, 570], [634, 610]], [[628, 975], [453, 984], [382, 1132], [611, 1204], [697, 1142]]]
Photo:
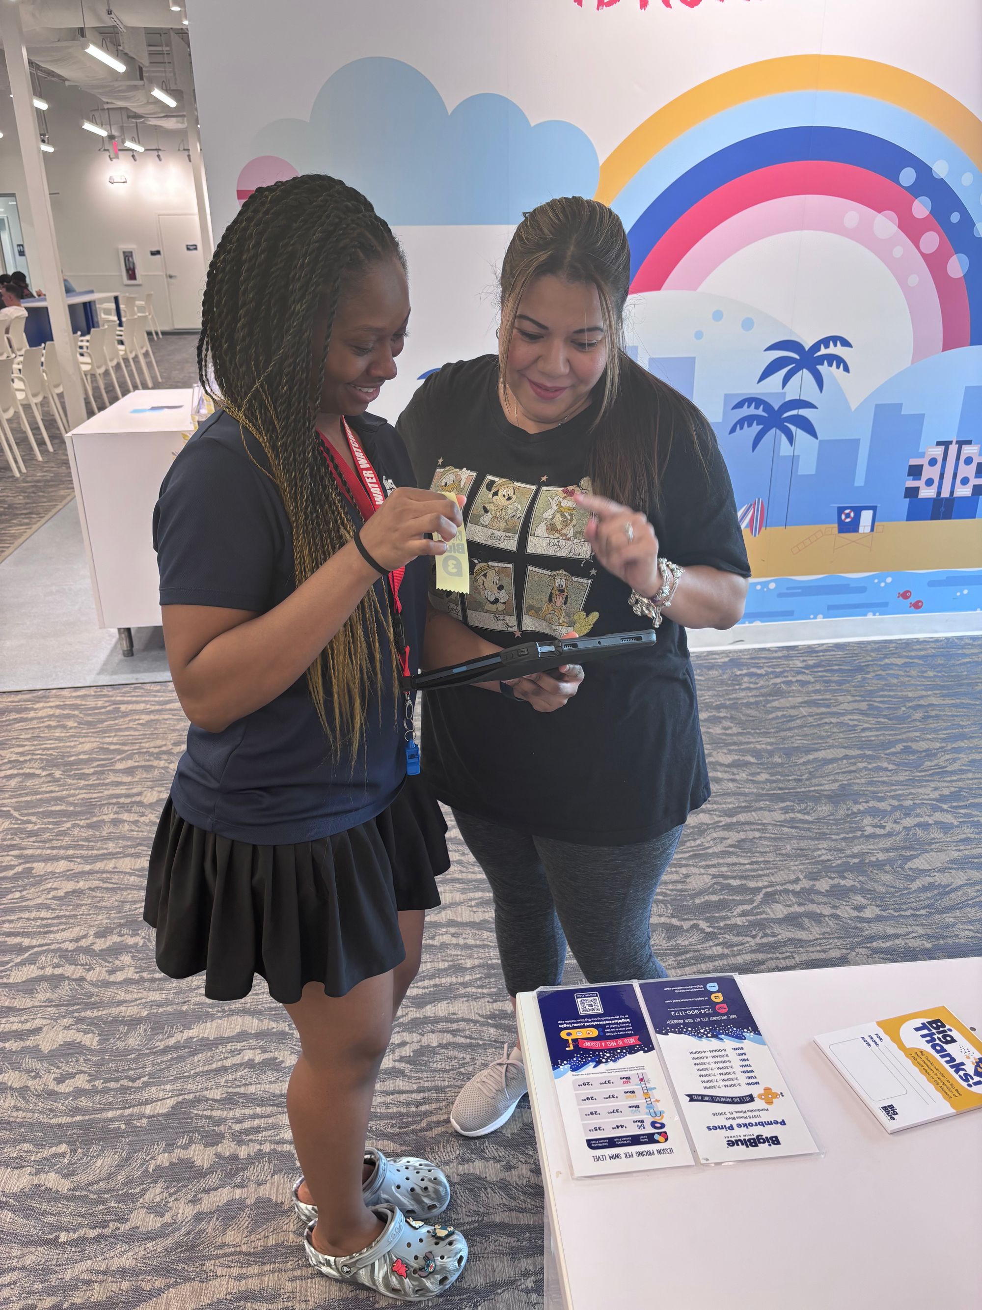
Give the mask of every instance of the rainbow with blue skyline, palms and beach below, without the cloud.
[[[628, 231], [635, 351], [719, 435], [761, 578], [749, 620], [978, 609], [982, 122], [886, 64], [770, 59], [652, 114], [604, 161], [596, 196]], [[787, 233], [846, 238], [896, 284], [909, 350], [868, 394], [852, 384], [869, 338], [830, 321], [809, 345], [761, 314], [753, 287], [707, 295], [758, 244], [763, 292], [763, 244]]]

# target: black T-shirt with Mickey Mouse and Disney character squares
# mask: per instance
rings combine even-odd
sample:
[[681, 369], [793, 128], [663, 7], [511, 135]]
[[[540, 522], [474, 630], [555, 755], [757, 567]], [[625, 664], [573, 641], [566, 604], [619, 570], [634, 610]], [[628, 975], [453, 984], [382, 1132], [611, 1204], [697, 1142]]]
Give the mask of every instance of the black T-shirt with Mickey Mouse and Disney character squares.
[[[422, 487], [466, 496], [465, 595], [431, 601], [498, 646], [575, 631], [638, 631], [651, 620], [630, 587], [593, 558], [585, 510], [597, 402], [530, 434], [498, 398], [498, 358], [446, 364], [415, 393], [397, 428]], [[627, 385], [638, 385], [628, 381]], [[652, 520], [659, 553], [746, 578], [733, 490], [708, 423], [693, 410], [699, 448], [672, 434]], [[681, 586], [685, 586], [685, 578]], [[653, 652], [585, 665], [577, 694], [553, 714], [477, 686], [431, 692], [423, 705], [423, 770], [444, 803], [520, 832], [618, 846], [685, 823], [710, 795], [685, 629], [670, 609]]]

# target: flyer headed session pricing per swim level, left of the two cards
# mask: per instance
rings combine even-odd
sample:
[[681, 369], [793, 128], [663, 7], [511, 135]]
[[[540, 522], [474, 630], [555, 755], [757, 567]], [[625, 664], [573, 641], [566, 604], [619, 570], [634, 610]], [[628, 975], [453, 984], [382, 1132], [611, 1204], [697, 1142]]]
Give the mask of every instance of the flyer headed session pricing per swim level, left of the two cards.
[[538, 1006], [573, 1174], [691, 1165], [634, 984], [541, 992]]

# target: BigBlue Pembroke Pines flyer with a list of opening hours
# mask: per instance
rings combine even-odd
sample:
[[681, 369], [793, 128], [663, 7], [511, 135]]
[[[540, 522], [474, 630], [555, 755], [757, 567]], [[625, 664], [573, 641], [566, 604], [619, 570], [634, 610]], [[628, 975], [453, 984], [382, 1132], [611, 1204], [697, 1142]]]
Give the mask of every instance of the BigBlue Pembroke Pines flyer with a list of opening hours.
[[638, 988], [700, 1163], [818, 1153], [732, 975]]

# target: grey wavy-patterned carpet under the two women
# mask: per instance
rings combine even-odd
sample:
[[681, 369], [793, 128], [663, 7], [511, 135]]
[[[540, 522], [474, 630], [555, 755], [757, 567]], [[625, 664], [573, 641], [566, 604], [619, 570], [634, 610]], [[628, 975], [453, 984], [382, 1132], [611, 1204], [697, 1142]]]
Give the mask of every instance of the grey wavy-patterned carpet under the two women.
[[[982, 660], [973, 638], [697, 665], [714, 777], [656, 903], [672, 972], [977, 954]], [[147, 848], [183, 735], [166, 684], [0, 698], [0, 1305], [389, 1305], [309, 1272], [288, 1210], [293, 1041], [261, 988], [156, 973]], [[372, 1138], [440, 1161], [470, 1238], [448, 1310], [541, 1303], [528, 1108], [486, 1141], [449, 1102], [509, 1034], [490, 900], [460, 842]]]

